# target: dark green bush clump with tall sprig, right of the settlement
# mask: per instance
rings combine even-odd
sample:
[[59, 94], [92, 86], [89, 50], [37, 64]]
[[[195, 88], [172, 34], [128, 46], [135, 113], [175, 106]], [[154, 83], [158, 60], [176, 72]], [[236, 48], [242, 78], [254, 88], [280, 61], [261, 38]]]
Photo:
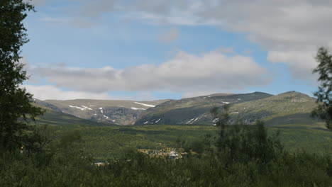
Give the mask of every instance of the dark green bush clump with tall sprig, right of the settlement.
[[277, 135], [268, 136], [262, 121], [258, 120], [255, 125], [245, 125], [237, 121], [232, 125], [228, 109], [226, 105], [223, 106], [221, 114], [216, 108], [211, 111], [214, 118], [218, 117], [216, 126], [219, 127], [219, 132], [216, 148], [221, 157], [226, 158], [228, 162], [255, 161], [266, 164], [282, 154], [283, 147]]

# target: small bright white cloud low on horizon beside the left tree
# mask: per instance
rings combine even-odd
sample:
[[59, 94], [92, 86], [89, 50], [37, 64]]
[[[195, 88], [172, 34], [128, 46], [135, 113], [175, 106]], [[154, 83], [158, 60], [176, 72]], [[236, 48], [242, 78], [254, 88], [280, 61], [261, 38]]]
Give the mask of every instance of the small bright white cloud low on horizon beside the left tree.
[[77, 98], [111, 99], [111, 97], [106, 93], [95, 94], [84, 91], [63, 91], [62, 89], [50, 85], [24, 85], [24, 87], [29, 93], [33, 94], [34, 98], [38, 98], [40, 100], [70, 100]]

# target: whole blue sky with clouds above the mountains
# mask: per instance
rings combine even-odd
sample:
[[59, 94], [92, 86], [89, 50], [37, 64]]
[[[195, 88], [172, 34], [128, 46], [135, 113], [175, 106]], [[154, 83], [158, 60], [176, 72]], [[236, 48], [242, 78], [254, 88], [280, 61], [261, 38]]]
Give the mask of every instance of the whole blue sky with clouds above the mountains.
[[[28, 0], [26, 0], [28, 1]], [[23, 86], [35, 98], [148, 101], [316, 91], [328, 0], [33, 0]]]

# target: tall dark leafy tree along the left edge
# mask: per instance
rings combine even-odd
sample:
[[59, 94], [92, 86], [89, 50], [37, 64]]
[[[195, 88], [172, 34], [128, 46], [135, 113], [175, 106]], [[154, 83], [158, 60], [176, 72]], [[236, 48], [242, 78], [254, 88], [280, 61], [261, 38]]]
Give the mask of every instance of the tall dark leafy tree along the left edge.
[[24, 145], [27, 120], [43, 113], [21, 87], [28, 79], [20, 62], [21, 46], [28, 42], [23, 26], [28, 11], [34, 11], [28, 1], [0, 1], [0, 149], [9, 151]]

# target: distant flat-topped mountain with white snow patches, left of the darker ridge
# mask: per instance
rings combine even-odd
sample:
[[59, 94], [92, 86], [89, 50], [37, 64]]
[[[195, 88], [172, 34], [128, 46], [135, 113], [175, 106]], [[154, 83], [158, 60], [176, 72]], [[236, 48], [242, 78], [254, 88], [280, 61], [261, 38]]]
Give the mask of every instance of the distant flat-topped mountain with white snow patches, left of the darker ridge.
[[52, 111], [74, 115], [77, 118], [114, 125], [133, 125], [142, 111], [169, 100], [112, 101], [76, 99], [67, 101], [35, 100]]

